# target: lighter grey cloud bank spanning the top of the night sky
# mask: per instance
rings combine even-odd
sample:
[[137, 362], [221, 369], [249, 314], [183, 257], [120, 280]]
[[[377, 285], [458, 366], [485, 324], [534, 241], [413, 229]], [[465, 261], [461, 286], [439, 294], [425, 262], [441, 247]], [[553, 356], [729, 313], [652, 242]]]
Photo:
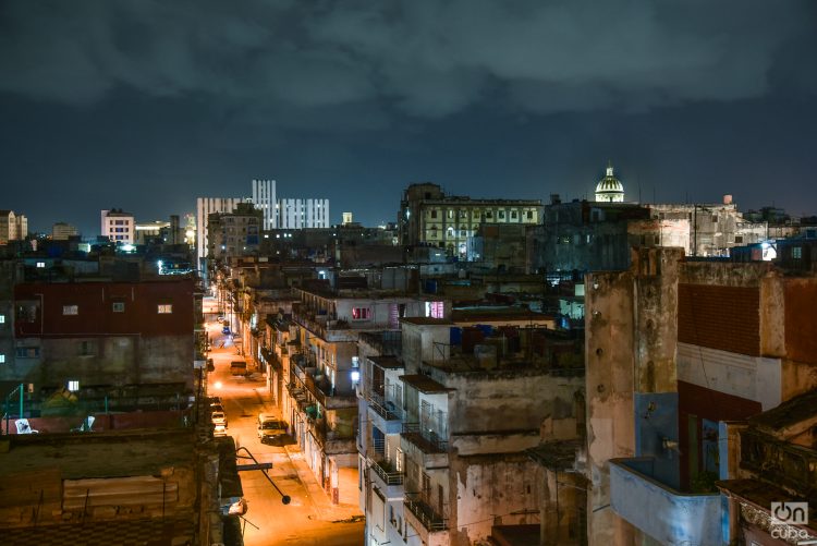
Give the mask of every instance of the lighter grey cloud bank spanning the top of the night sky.
[[125, 86], [259, 116], [380, 100], [439, 118], [488, 95], [535, 113], [644, 110], [764, 96], [812, 15], [760, 0], [19, 0], [3, 7], [0, 90], [87, 105]]

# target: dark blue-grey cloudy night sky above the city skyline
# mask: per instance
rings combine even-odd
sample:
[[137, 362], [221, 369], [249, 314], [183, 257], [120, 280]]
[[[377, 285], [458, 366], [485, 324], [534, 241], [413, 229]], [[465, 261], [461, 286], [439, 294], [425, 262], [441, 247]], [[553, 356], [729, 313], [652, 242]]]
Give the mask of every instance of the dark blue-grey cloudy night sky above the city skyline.
[[197, 196], [328, 197], [371, 226], [474, 197], [817, 214], [817, 2], [0, 2], [0, 208], [29, 230]]

